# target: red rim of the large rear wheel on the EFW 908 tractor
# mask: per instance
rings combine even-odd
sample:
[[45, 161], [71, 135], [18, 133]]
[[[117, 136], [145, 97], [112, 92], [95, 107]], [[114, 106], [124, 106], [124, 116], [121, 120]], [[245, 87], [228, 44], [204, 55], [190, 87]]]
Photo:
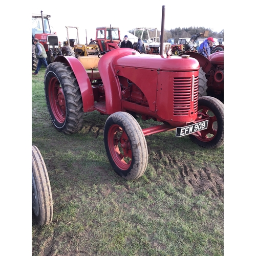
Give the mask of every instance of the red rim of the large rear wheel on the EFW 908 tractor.
[[50, 79], [48, 90], [52, 113], [59, 123], [63, 123], [66, 119], [66, 101], [62, 87], [56, 77]]

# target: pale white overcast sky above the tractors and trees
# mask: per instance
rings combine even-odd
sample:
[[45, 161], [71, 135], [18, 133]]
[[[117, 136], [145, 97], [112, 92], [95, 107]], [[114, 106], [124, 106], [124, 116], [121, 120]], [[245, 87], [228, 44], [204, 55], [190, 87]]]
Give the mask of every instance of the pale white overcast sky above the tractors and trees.
[[[99, 3], [108, 4], [99, 4]], [[32, 13], [50, 14], [50, 25], [53, 31], [57, 32], [60, 41], [66, 40], [66, 26], [79, 27], [79, 40], [83, 44], [90, 38], [95, 39], [96, 27], [119, 27], [121, 35], [136, 27], [150, 27], [161, 30], [162, 6], [165, 6], [165, 29], [204, 27], [215, 32], [224, 29], [223, 14], [224, 8], [218, 9], [218, 15], [211, 15], [211, 18], [203, 14], [201, 7], [191, 5], [191, 1], [181, 1], [180, 4], [165, 4], [167, 1], [157, 2], [81, 2], [79, 10], [73, 11], [72, 8], [78, 9], [79, 2], [66, 2], [56, 4], [56, 7], [50, 7], [49, 2], [33, 2], [31, 5]], [[52, 2], [53, 3], [53, 2]], [[56, 2], [57, 3], [57, 2]], [[89, 4], [90, 3], [90, 4]], [[157, 4], [156, 4], [157, 3]], [[199, 2], [197, 2], [199, 3]], [[186, 8], [181, 8], [186, 6]], [[76, 29], [69, 29], [69, 37], [76, 38]], [[122, 39], [122, 38], [121, 38]]]

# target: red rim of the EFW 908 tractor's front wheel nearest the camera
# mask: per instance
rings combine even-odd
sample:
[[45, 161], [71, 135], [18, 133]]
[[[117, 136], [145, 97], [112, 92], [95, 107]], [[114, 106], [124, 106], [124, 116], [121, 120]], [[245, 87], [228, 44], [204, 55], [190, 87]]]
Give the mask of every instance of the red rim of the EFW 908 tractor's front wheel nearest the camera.
[[118, 124], [113, 124], [108, 133], [110, 154], [119, 169], [127, 170], [132, 162], [130, 141]]

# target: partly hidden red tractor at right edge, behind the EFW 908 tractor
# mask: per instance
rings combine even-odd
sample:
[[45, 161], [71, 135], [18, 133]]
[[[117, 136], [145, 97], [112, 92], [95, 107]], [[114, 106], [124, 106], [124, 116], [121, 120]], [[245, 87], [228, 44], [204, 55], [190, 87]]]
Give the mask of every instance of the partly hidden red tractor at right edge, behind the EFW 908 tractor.
[[212, 53], [207, 58], [196, 52], [185, 54], [199, 62], [199, 96], [208, 95], [224, 101], [224, 51]]

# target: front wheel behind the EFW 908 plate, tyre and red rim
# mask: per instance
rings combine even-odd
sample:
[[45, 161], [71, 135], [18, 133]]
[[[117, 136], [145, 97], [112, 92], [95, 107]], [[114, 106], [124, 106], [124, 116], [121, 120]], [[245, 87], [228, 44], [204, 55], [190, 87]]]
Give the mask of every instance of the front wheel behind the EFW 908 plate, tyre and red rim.
[[198, 115], [208, 119], [206, 130], [189, 135], [189, 138], [199, 146], [214, 149], [224, 144], [224, 104], [209, 96], [198, 99]]

